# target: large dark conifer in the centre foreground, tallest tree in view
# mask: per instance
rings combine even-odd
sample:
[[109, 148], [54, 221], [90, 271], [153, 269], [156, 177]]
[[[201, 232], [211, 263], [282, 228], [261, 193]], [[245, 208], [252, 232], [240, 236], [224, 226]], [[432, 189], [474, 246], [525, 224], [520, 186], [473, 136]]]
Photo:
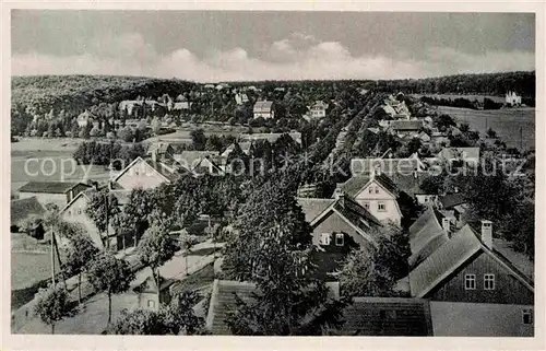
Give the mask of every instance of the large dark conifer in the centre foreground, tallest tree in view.
[[292, 192], [266, 183], [249, 197], [226, 245], [227, 278], [253, 281], [253, 301], [237, 297], [227, 324], [236, 335], [321, 335], [341, 325], [346, 301], [313, 278], [311, 230]]

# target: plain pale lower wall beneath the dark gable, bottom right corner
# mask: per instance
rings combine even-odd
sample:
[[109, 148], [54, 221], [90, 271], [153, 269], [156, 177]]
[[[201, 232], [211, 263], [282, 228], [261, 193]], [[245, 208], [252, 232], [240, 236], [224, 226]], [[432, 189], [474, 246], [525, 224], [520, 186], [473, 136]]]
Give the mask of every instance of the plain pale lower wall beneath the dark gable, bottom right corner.
[[534, 324], [523, 324], [532, 305], [430, 302], [437, 337], [533, 337]]

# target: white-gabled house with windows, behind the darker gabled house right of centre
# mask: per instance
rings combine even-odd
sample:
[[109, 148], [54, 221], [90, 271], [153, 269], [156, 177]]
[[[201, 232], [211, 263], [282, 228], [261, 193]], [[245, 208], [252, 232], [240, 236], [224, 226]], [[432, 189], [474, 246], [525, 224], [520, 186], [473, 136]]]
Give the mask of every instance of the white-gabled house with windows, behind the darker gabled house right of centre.
[[380, 221], [401, 224], [402, 211], [396, 201], [396, 185], [380, 171], [353, 176], [340, 185], [336, 192], [346, 194]]

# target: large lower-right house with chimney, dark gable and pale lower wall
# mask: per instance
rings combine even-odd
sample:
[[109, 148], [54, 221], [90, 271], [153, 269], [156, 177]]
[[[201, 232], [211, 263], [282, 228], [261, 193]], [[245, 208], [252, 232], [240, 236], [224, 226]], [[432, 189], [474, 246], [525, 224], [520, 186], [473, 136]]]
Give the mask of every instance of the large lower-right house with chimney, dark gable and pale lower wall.
[[452, 233], [427, 230], [434, 221], [419, 225], [427, 235], [411, 237], [413, 255], [417, 241], [428, 244], [420, 245], [426, 254], [408, 278], [412, 296], [430, 300], [435, 335], [533, 336], [533, 280], [497, 249], [492, 223], [467, 223]]

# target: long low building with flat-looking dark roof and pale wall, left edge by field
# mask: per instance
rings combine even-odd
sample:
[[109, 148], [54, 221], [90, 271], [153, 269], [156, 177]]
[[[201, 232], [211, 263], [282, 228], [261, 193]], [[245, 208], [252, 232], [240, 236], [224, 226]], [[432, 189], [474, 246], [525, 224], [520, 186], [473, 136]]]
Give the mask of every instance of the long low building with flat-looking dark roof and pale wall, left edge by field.
[[43, 206], [54, 203], [63, 208], [91, 185], [79, 182], [28, 182], [19, 189], [21, 199], [36, 198]]

